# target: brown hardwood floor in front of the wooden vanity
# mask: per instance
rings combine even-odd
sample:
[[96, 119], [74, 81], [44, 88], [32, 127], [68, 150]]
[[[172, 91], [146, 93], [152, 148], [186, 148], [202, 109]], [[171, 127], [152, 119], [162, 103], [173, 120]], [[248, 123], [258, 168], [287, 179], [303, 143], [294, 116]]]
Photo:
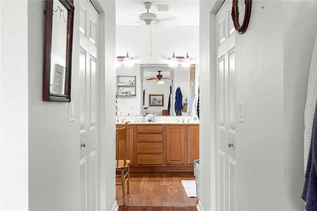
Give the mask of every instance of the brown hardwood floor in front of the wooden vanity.
[[195, 180], [193, 172], [130, 172], [126, 206], [116, 185], [119, 211], [196, 211], [198, 199], [187, 197], [181, 180]]

